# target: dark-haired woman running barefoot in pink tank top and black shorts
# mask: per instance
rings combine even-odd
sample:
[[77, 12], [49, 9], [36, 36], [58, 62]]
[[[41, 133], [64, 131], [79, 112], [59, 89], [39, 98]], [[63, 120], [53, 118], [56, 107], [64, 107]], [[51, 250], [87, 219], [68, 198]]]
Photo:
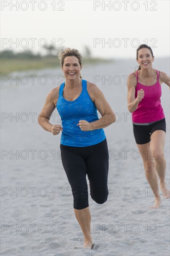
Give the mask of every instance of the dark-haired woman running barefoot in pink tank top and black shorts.
[[145, 176], [155, 195], [151, 208], [159, 208], [161, 198], [157, 175], [164, 198], [170, 198], [165, 182], [166, 122], [160, 100], [161, 84], [164, 82], [170, 87], [170, 77], [152, 67], [152, 49], [145, 44], [137, 49], [137, 61], [139, 69], [130, 74], [127, 81], [128, 110], [132, 113], [133, 133], [143, 159]]

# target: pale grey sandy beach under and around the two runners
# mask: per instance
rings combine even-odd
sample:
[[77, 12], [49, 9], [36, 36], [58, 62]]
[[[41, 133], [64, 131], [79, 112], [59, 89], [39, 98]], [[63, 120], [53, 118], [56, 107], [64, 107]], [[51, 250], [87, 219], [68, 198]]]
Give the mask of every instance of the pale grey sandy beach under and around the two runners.
[[[168, 74], [168, 58], [155, 59], [153, 64]], [[89, 195], [93, 250], [81, 249], [83, 235], [74, 216], [71, 188], [60, 156], [61, 135], [45, 132], [37, 121], [48, 92], [63, 81], [62, 71], [15, 72], [8, 81], [1, 81], [2, 256], [169, 255], [170, 200], [160, 192], [160, 209], [150, 209], [154, 197], [127, 110], [126, 77], [136, 66], [135, 60], [119, 60], [82, 68], [83, 79], [102, 90], [117, 117], [104, 129], [109, 149], [107, 202], [99, 205]], [[169, 184], [170, 89], [165, 84], [161, 101], [167, 123]], [[57, 110], [50, 122], [61, 124]]]

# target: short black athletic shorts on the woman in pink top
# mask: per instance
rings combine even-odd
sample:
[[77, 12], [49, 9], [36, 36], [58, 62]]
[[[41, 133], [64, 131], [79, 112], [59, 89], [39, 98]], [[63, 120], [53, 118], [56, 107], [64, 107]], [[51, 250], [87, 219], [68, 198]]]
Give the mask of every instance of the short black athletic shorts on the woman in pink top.
[[166, 133], [165, 118], [149, 125], [133, 124], [133, 134], [137, 144], [145, 144], [151, 141], [151, 134], [156, 130], [163, 130]]

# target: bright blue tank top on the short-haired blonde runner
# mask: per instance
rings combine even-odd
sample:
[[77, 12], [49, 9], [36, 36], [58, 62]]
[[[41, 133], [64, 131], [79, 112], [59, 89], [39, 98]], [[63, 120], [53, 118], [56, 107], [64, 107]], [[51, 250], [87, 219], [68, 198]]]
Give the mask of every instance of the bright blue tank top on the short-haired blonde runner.
[[103, 129], [82, 131], [77, 124], [79, 120], [93, 122], [99, 120], [97, 108], [87, 91], [87, 81], [82, 80], [82, 93], [74, 101], [63, 97], [65, 82], [61, 84], [57, 101], [57, 110], [62, 120], [61, 144], [73, 147], [87, 147], [104, 141], [106, 135]]

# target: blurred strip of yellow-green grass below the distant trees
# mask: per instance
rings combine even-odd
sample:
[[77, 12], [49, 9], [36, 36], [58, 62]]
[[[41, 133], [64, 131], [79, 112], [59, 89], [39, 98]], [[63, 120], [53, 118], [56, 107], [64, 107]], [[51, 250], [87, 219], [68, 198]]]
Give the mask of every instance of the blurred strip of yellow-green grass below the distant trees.
[[[83, 58], [83, 64], [98, 64], [109, 63], [112, 60], [106, 60], [101, 58]], [[0, 75], [7, 75], [14, 71], [28, 71], [31, 69], [44, 69], [48, 67], [60, 67], [60, 62], [56, 57], [43, 57], [34, 59], [8, 59], [1, 58], [0, 60]]]

